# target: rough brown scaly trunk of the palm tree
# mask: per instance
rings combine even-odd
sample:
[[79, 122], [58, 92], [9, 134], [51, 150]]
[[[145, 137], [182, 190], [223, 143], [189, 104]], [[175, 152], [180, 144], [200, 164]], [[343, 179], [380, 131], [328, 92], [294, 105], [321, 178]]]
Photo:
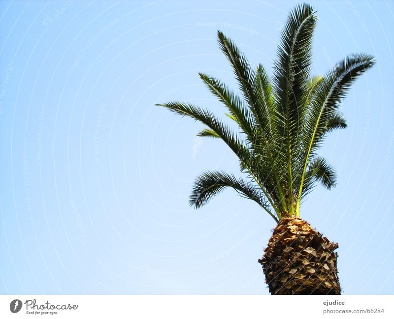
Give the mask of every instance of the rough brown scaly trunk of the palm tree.
[[269, 292], [340, 294], [336, 248], [301, 218], [283, 217], [259, 260]]

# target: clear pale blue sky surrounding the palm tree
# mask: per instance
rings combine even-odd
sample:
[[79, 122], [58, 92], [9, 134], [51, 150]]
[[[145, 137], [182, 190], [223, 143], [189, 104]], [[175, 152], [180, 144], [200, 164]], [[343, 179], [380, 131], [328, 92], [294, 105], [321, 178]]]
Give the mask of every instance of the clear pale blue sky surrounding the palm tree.
[[[321, 153], [337, 187], [301, 216], [339, 242], [346, 294], [394, 292], [394, 3], [310, 1], [316, 74], [377, 64]], [[275, 223], [231, 190], [202, 209], [204, 170], [237, 172], [220, 141], [158, 102], [224, 108], [197, 72], [236, 83], [216, 31], [272, 67], [296, 1], [0, 2], [0, 293], [267, 294], [257, 260]]]

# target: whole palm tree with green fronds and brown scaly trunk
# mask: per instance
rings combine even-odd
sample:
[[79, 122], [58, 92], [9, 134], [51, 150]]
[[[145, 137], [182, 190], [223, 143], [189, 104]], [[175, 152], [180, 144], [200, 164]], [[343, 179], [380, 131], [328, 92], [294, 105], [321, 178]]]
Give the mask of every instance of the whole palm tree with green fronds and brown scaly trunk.
[[313, 8], [297, 5], [281, 34], [273, 76], [263, 65], [252, 69], [236, 45], [218, 31], [239, 84], [234, 92], [220, 80], [199, 73], [208, 89], [239, 127], [235, 132], [210, 111], [193, 104], [158, 104], [206, 125], [198, 136], [223, 140], [236, 154], [239, 178], [207, 171], [195, 181], [190, 204], [207, 203], [226, 187], [258, 203], [278, 223], [259, 262], [271, 294], [340, 294], [338, 244], [300, 218], [300, 203], [317, 182], [335, 186], [334, 169], [317, 153], [326, 135], [347, 126], [338, 111], [353, 82], [374, 65], [373, 57], [354, 54], [324, 76], [311, 76]]

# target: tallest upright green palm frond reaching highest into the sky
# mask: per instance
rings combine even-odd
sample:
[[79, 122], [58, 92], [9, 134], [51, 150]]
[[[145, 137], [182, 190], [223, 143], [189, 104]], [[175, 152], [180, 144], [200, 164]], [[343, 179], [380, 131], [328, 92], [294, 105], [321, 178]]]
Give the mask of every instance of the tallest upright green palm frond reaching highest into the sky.
[[[300, 125], [306, 115], [307, 84], [310, 73], [312, 35], [316, 17], [313, 8], [307, 4], [297, 5], [290, 14], [278, 49], [275, 62], [274, 84], [277, 113], [276, 126], [282, 137], [282, 151], [278, 154], [287, 166], [289, 194], [293, 194], [293, 180], [298, 166], [298, 147], [302, 136]], [[292, 214], [293, 198], [289, 196], [289, 208]]]

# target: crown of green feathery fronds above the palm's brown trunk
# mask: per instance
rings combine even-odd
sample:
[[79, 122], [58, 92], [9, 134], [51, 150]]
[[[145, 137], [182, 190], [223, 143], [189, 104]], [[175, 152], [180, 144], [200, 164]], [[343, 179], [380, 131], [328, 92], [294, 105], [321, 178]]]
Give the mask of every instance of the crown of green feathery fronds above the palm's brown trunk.
[[241, 95], [220, 80], [199, 73], [208, 89], [228, 109], [237, 133], [210, 111], [188, 103], [158, 104], [207, 126], [198, 136], [219, 138], [236, 154], [246, 179], [221, 171], [199, 175], [190, 197], [196, 208], [226, 187], [257, 202], [277, 222], [299, 216], [299, 205], [316, 182], [335, 186], [335, 173], [317, 150], [327, 135], [347, 126], [338, 112], [352, 83], [375, 61], [354, 54], [324, 76], [312, 76], [313, 8], [297, 5], [282, 31], [273, 76], [263, 65], [252, 69], [236, 45], [218, 31], [220, 49], [232, 66]]

